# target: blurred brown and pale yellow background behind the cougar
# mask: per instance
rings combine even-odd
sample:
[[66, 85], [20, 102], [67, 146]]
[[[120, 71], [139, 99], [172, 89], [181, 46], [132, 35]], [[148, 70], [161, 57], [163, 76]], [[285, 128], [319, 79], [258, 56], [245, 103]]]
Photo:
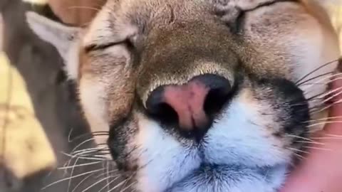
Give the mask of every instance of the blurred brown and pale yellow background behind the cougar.
[[[0, 191], [39, 191], [41, 183], [63, 178], [65, 173], [54, 173], [55, 178], [44, 180], [66, 162], [62, 152], [77, 144], [69, 144], [70, 138], [84, 134], [88, 126], [74, 104], [75, 95], [68, 92], [72, 87], [56, 51], [28, 33], [23, 23], [28, 9], [51, 14], [45, 3], [0, 0]], [[342, 6], [325, 3], [342, 37]]]

